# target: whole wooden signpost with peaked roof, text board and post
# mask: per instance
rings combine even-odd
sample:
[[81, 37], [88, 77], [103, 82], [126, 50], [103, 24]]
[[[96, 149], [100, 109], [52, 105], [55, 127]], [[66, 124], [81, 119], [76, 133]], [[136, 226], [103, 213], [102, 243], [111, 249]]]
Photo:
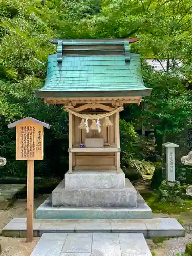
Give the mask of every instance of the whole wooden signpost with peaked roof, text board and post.
[[16, 126], [16, 160], [27, 160], [27, 242], [33, 240], [34, 160], [42, 160], [44, 128], [50, 125], [26, 117], [8, 125]]

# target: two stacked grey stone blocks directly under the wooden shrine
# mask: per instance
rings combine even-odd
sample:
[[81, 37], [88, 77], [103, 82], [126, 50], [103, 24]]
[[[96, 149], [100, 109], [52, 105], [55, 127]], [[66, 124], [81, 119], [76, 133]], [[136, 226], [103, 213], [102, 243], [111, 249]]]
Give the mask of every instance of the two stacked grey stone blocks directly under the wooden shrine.
[[[103, 177], [104, 180], [101, 182], [103, 186], [105, 185], [105, 187], [112, 186], [113, 182], [110, 180], [114, 181], [114, 179], [119, 177], [119, 174], [117, 173], [109, 175], [106, 174], [106, 172], [103, 172], [103, 175], [108, 175], [107, 178], [105, 177], [105, 179]], [[93, 188], [91, 186], [89, 188], [66, 188], [65, 184], [67, 183], [69, 186], [69, 183], [73, 181], [73, 178], [69, 178], [68, 176], [73, 177], [73, 174], [65, 175], [65, 180], [63, 180], [52, 192], [52, 205], [54, 207], [136, 207], [137, 191], [128, 179], [124, 179], [124, 174], [120, 175], [123, 178], [121, 179], [122, 184], [119, 183], [119, 186], [123, 186], [124, 180], [124, 188], [94, 188], [94, 186]], [[83, 174], [85, 181], [84, 186], [88, 186], [88, 181], [90, 181], [90, 184], [92, 184], [92, 176], [93, 180], [97, 180], [95, 186], [100, 186], [101, 184], [98, 179], [102, 178], [102, 172], [101, 177], [100, 175], [96, 174], [92, 174], [91, 176]], [[74, 174], [74, 177], [74, 180], [77, 181], [79, 175], [76, 177]], [[79, 187], [82, 186], [83, 177], [81, 177], [81, 179], [79, 178]], [[116, 184], [118, 184], [117, 180]], [[77, 186], [77, 184], [74, 182], [73, 186]], [[114, 186], [116, 186], [115, 182]]]

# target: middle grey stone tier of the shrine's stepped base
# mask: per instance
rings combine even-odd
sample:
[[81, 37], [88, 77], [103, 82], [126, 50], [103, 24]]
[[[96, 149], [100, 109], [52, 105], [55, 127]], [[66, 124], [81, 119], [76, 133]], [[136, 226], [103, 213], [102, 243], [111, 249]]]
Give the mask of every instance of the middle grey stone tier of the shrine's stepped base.
[[63, 180], [52, 192], [52, 205], [54, 207], [136, 207], [137, 191], [129, 180], [126, 181], [125, 188], [81, 189], [66, 188]]

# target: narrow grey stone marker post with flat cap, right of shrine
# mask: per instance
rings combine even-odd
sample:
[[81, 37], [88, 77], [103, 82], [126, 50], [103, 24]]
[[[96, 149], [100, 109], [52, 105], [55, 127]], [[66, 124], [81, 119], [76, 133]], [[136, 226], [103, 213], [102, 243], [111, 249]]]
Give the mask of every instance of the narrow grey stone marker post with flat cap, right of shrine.
[[166, 178], [168, 181], [175, 180], [175, 147], [179, 145], [167, 142], [163, 144], [166, 147]]

